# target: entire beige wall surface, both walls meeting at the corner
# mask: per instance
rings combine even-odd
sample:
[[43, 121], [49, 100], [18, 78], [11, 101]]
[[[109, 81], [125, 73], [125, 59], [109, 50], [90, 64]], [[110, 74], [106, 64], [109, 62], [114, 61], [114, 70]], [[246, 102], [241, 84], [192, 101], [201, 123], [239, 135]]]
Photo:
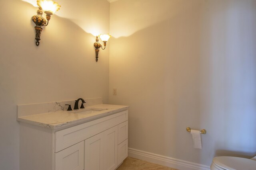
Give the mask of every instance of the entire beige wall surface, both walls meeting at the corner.
[[[129, 105], [134, 149], [206, 165], [256, 154], [255, 0], [59, 3], [36, 47], [37, 8], [0, 1], [1, 170], [19, 166], [17, 104], [78, 97]], [[109, 27], [96, 63], [92, 34]], [[202, 150], [187, 126], [207, 130]]]

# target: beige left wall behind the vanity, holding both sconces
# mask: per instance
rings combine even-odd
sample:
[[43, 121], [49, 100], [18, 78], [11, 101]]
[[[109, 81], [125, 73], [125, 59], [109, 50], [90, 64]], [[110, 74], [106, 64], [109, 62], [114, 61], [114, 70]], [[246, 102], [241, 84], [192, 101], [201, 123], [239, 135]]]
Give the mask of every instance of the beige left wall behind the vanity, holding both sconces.
[[109, 49], [100, 51], [96, 63], [91, 33], [94, 27], [109, 32], [109, 2], [74, 0], [72, 6], [70, 0], [57, 2], [62, 7], [43, 28], [37, 47], [31, 21], [37, 8], [21, 0], [0, 1], [1, 170], [19, 169], [18, 104], [80, 97], [108, 102]]

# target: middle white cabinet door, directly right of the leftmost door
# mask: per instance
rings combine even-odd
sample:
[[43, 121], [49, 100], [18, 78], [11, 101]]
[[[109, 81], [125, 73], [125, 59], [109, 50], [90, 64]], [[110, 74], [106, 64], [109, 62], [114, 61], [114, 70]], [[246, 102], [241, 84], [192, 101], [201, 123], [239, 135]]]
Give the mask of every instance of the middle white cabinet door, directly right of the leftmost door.
[[104, 132], [84, 141], [84, 170], [104, 170]]

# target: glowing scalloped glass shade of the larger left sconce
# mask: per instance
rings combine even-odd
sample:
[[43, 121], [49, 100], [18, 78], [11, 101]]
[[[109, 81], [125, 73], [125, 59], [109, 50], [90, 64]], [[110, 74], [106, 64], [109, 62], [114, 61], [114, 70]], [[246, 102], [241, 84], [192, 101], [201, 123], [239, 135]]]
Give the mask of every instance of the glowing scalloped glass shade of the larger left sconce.
[[52, 0], [37, 0], [37, 5], [40, 6], [44, 12], [50, 15], [54, 14], [54, 12], [58, 11], [60, 9], [60, 5], [57, 2], [54, 2]]

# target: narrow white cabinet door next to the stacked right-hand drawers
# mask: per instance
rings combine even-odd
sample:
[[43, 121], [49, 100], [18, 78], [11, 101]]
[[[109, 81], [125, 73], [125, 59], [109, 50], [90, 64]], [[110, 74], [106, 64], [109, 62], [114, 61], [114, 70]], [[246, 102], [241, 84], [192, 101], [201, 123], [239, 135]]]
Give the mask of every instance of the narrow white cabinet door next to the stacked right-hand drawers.
[[104, 170], [114, 170], [117, 164], [118, 126], [104, 131]]

